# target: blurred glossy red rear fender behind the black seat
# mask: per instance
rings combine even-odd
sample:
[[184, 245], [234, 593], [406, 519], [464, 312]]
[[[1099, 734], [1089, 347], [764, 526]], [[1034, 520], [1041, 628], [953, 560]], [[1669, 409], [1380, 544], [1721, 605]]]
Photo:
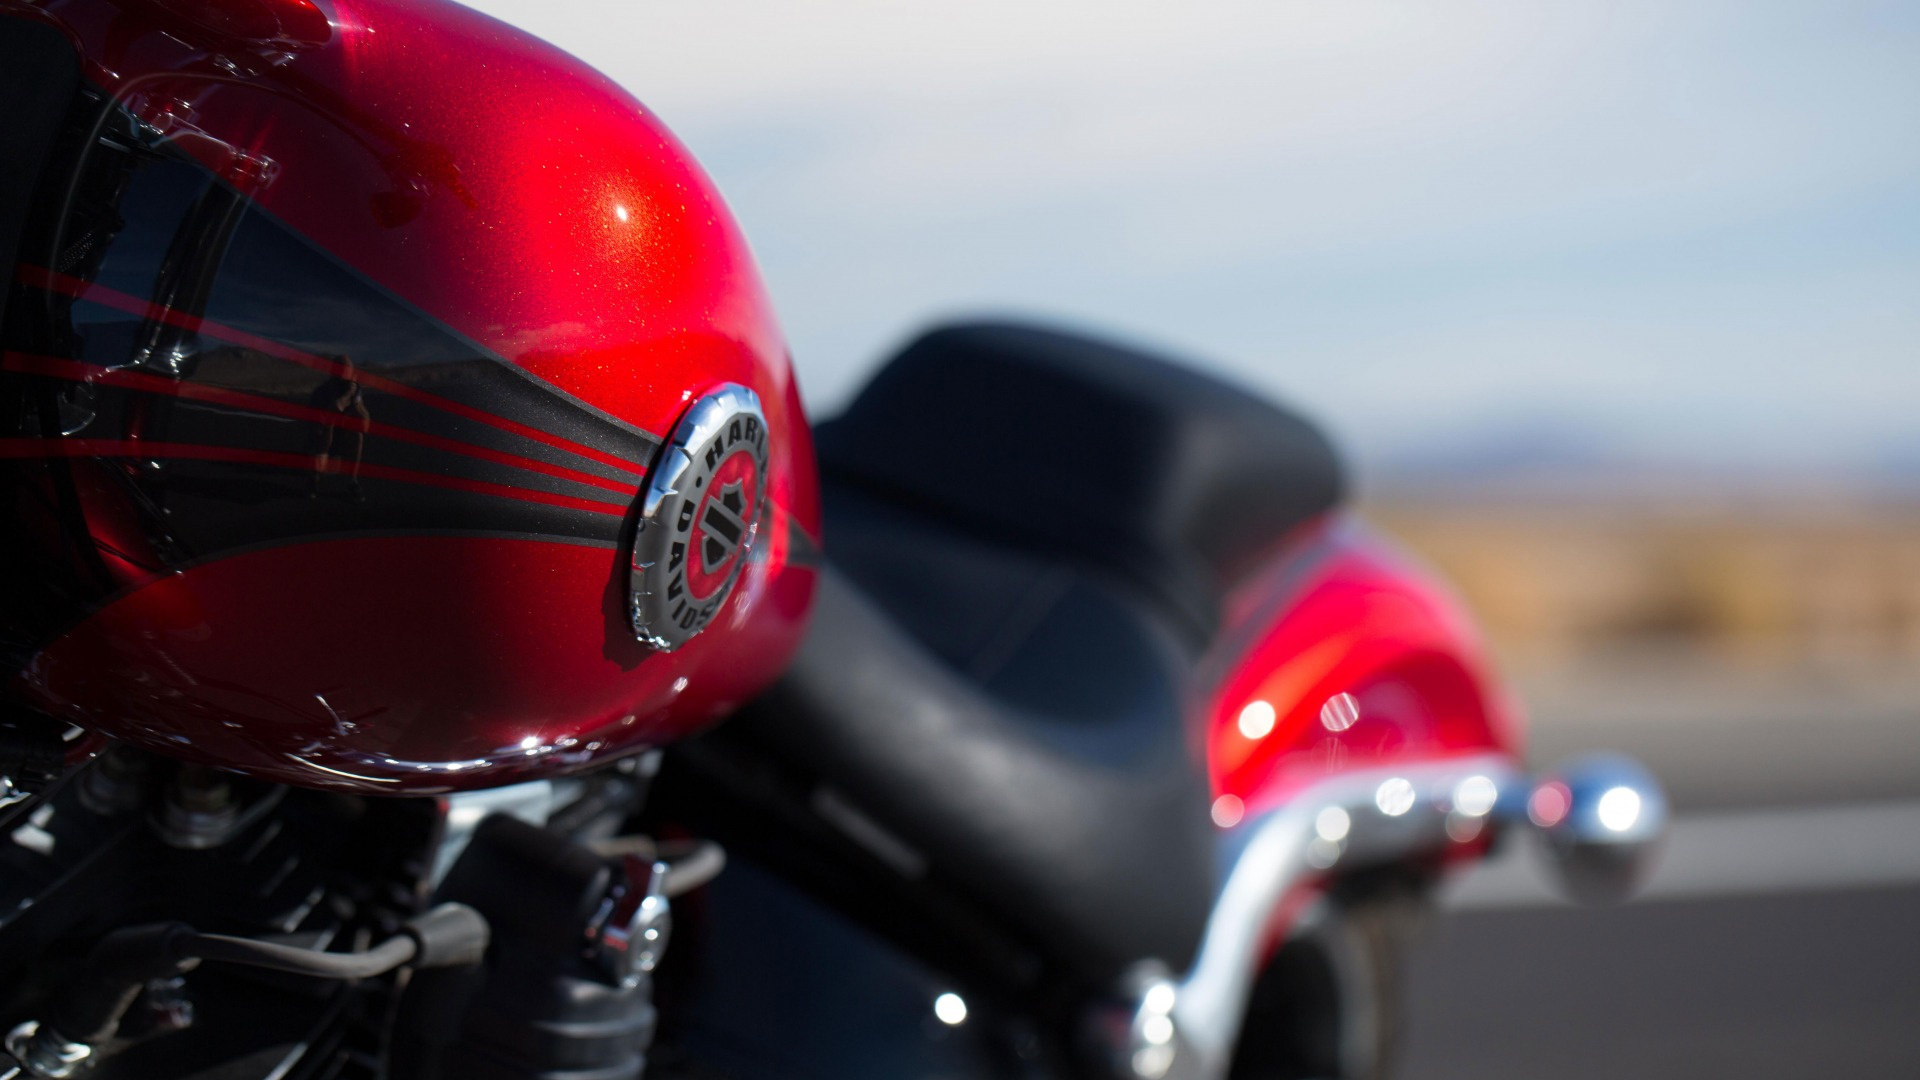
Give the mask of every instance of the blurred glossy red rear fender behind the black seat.
[[[1208, 761], [1215, 796], [1248, 815], [1342, 771], [1521, 753], [1519, 713], [1465, 611], [1352, 521], [1298, 536], [1231, 598], [1227, 623]], [[1254, 701], [1271, 726], [1261, 715], [1242, 730]]]

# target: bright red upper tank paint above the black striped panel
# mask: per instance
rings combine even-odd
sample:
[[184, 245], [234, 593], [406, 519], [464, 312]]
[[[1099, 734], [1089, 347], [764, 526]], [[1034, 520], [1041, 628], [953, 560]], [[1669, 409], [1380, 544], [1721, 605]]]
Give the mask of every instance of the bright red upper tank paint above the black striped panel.
[[[294, 29], [238, 37], [236, 10]], [[712, 183], [632, 94], [532, 35], [445, 0], [0, 12], [52, 17], [134, 115], [217, 173], [269, 177], [257, 206], [580, 400], [655, 434], [685, 390], [783, 400], [785, 346]]]

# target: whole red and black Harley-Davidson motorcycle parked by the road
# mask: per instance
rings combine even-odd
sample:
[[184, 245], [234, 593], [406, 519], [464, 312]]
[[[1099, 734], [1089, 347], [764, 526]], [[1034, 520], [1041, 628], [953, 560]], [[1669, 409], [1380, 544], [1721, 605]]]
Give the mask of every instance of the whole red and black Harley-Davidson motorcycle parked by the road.
[[0, 0], [4, 1076], [1380, 1076], [1542, 776], [1300, 415], [927, 332], [810, 427], [666, 127], [442, 0]]

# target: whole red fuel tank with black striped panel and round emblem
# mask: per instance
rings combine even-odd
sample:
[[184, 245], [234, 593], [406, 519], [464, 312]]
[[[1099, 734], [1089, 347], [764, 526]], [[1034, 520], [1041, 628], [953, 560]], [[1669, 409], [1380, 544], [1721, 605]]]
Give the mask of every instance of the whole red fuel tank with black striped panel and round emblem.
[[780, 673], [806, 419], [739, 231], [639, 102], [442, 0], [0, 0], [0, 52], [38, 73], [6, 108], [54, 110], [0, 215], [15, 705], [428, 794], [666, 742]]

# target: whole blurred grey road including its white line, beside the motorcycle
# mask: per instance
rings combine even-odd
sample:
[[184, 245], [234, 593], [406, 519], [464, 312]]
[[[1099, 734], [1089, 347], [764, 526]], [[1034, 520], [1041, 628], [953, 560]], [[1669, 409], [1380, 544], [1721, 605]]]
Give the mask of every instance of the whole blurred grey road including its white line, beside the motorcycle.
[[1617, 909], [1553, 903], [1524, 849], [1457, 882], [1409, 957], [1400, 1078], [1920, 1078], [1920, 696], [1807, 694], [1544, 709], [1540, 757], [1653, 765], [1674, 840]]

